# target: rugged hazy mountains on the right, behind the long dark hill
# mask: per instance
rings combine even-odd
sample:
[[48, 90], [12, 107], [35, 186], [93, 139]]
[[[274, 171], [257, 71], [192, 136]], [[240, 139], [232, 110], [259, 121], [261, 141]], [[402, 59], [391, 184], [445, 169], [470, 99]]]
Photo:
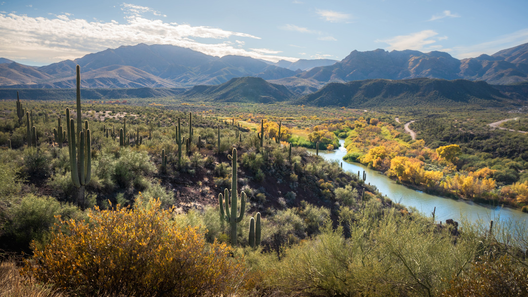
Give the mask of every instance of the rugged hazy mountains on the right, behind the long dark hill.
[[365, 79], [468, 79], [493, 84], [528, 81], [528, 44], [499, 51], [492, 56], [458, 60], [447, 53], [433, 51], [353, 51], [330, 66], [316, 67], [297, 74], [321, 82]]

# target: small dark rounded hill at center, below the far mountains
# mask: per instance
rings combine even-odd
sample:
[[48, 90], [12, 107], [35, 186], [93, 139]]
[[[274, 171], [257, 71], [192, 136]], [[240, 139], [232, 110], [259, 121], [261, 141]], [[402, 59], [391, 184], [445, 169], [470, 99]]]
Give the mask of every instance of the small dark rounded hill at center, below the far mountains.
[[196, 85], [183, 95], [195, 100], [254, 103], [285, 101], [296, 97], [284, 85], [253, 77], [234, 78], [220, 85]]

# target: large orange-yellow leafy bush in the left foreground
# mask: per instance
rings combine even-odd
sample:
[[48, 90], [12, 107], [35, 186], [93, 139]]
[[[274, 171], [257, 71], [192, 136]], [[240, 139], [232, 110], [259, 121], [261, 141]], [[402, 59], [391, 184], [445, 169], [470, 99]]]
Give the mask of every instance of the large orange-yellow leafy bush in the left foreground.
[[93, 210], [89, 223], [62, 221], [34, 247], [25, 273], [81, 294], [224, 296], [243, 285], [244, 264], [225, 244], [180, 228], [159, 201], [130, 210]]

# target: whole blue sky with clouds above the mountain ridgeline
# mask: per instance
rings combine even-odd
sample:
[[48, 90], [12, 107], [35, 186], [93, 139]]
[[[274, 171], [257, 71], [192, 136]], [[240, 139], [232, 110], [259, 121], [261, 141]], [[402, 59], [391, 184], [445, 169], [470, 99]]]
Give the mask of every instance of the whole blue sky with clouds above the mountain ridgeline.
[[121, 45], [342, 60], [375, 49], [464, 59], [528, 42], [526, 0], [0, 0], [0, 57], [48, 65]]

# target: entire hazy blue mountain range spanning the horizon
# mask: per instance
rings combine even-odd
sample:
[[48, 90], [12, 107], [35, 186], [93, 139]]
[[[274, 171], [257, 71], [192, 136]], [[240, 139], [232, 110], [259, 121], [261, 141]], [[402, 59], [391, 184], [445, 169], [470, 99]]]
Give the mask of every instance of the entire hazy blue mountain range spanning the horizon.
[[511, 84], [528, 81], [528, 43], [493, 55], [458, 60], [433, 51], [353, 51], [341, 61], [271, 63], [247, 56], [206, 55], [174, 45], [120, 46], [76, 60], [28, 66], [0, 58], [0, 88], [73, 88], [75, 66], [83, 88], [191, 88], [254, 76], [309, 94], [329, 82], [431, 78]]

